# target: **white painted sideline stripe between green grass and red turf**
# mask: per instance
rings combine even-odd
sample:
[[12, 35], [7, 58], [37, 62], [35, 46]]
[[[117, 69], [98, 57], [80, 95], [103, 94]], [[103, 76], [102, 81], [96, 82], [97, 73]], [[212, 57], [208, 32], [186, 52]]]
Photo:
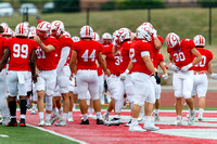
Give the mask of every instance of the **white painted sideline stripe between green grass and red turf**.
[[71, 136], [67, 136], [67, 135], [63, 135], [63, 134], [56, 133], [56, 132], [51, 131], [51, 130], [47, 130], [47, 129], [43, 129], [43, 128], [41, 128], [41, 127], [36, 127], [36, 126], [33, 126], [33, 125], [28, 125], [28, 123], [26, 123], [26, 125], [29, 126], [29, 127], [36, 128], [36, 129], [38, 129], [38, 130], [46, 131], [46, 132], [49, 132], [49, 133], [51, 133], [51, 134], [54, 134], [54, 135], [58, 135], [58, 136], [67, 139], [67, 140], [69, 140], [69, 141], [74, 141], [74, 142], [77, 142], [77, 143], [80, 143], [80, 144], [87, 144], [87, 143], [84, 142], [84, 141], [76, 140], [76, 139], [74, 139], [74, 138], [71, 138]]

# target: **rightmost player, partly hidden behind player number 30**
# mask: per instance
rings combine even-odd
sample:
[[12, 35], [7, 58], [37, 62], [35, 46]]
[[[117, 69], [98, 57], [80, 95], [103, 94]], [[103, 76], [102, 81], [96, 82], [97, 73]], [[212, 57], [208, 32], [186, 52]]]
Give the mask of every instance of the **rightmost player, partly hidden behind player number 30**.
[[205, 47], [205, 38], [202, 35], [197, 35], [193, 38], [196, 50], [202, 55], [202, 61], [194, 65], [193, 70], [193, 90], [192, 97], [194, 99], [196, 95], [199, 97], [199, 120], [203, 120], [203, 112], [205, 108], [205, 97], [208, 88], [208, 79], [206, 73], [210, 74], [210, 77], [215, 76], [212, 69], [212, 60], [213, 53], [204, 49]]

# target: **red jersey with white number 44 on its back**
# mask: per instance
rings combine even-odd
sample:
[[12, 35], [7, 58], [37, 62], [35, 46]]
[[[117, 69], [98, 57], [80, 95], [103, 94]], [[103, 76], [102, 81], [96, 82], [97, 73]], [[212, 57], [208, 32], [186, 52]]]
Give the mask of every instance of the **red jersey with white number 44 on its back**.
[[77, 52], [77, 69], [97, 70], [95, 60], [102, 51], [101, 43], [94, 40], [80, 40], [73, 44], [73, 50]]

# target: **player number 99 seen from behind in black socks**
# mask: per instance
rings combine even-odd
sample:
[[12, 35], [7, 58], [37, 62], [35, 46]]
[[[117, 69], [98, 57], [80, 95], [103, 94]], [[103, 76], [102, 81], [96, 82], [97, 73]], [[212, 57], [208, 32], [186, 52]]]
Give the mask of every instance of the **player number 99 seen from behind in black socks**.
[[[20, 127], [25, 127], [26, 117], [26, 94], [28, 79], [28, 69], [31, 69], [31, 76], [34, 82], [37, 81], [37, 75], [35, 73], [35, 50], [38, 44], [28, 39], [29, 29], [23, 23], [18, 24], [15, 28], [15, 38], [8, 39], [5, 42], [4, 55], [0, 62], [0, 71], [5, 66], [8, 58], [10, 57], [10, 65], [7, 78], [7, 84], [9, 90], [9, 108], [11, 114], [11, 121], [9, 127], [17, 126], [16, 122], [16, 95], [18, 92], [21, 102], [21, 121]], [[29, 65], [30, 60], [30, 65]]]

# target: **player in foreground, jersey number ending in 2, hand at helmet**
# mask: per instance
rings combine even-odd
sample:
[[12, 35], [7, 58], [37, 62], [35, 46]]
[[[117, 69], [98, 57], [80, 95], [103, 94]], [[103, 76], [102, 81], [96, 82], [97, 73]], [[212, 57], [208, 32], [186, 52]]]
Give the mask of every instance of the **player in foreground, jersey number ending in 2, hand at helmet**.
[[[138, 117], [144, 102], [148, 101], [151, 95], [153, 86], [150, 79], [150, 75], [153, 75], [158, 81], [158, 77], [155, 73], [153, 62], [151, 61], [153, 51], [152, 45], [149, 41], [152, 40], [151, 35], [149, 34], [150, 27], [140, 26], [137, 28], [137, 41], [131, 44], [130, 48], [130, 57], [132, 61], [132, 74], [131, 80], [135, 88], [135, 101], [132, 106], [132, 121], [129, 126], [129, 131], [143, 132], [148, 130], [157, 130], [151, 122], [151, 113], [153, 110], [153, 104], [150, 103], [145, 108], [145, 123], [144, 129], [138, 125]], [[152, 95], [153, 96], [153, 95]], [[154, 99], [152, 97], [152, 101]], [[150, 102], [152, 102], [150, 101]]]

